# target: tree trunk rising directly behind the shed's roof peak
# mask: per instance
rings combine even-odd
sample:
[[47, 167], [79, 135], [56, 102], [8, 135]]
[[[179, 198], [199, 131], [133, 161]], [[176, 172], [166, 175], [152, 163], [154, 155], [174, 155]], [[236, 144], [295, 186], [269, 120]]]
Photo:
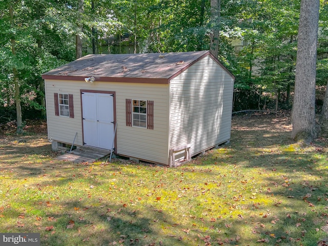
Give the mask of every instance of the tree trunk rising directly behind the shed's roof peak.
[[219, 19], [221, 12], [221, 0], [211, 0], [211, 43], [210, 52], [217, 58], [219, 53]]

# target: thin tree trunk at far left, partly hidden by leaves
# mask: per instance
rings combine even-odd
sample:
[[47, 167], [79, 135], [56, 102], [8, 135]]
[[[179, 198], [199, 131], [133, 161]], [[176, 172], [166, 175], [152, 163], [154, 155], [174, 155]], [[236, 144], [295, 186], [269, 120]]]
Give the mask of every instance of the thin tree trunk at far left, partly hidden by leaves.
[[[15, 29], [15, 22], [14, 22], [14, 11], [12, 4], [9, 6], [9, 18], [10, 18], [10, 24], [11, 28], [14, 30]], [[11, 52], [12, 55], [16, 55], [16, 39], [14, 34], [10, 38], [11, 42]], [[23, 133], [23, 120], [22, 120], [22, 108], [20, 107], [20, 92], [19, 92], [19, 78], [18, 78], [18, 70], [15, 67], [16, 65], [13, 66], [13, 83], [15, 87], [15, 103], [16, 103], [16, 116], [17, 116], [17, 130], [16, 132], [18, 134]]]

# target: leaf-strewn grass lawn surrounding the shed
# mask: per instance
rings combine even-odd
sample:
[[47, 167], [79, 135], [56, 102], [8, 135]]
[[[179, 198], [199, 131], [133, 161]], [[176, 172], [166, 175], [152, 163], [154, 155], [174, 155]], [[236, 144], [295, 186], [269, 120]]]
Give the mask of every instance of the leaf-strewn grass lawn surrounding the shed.
[[0, 232], [41, 245], [327, 245], [326, 139], [234, 116], [229, 145], [177, 168], [54, 160], [45, 128], [0, 133]]

